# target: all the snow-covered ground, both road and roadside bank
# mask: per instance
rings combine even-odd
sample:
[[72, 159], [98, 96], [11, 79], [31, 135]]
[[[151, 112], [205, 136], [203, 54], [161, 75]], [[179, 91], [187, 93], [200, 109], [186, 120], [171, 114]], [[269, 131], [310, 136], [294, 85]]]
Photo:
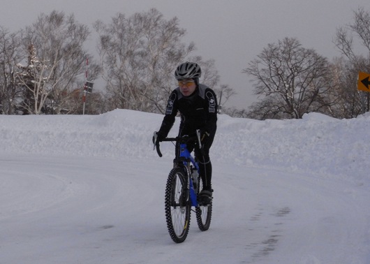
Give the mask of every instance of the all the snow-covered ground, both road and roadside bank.
[[[165, 224], [163, 116], [0, 116], [0, 263], [370, 263], [370, 115], [219, 115], [214, 212]], [[171, 135], [176, 135], [175, 124]]]

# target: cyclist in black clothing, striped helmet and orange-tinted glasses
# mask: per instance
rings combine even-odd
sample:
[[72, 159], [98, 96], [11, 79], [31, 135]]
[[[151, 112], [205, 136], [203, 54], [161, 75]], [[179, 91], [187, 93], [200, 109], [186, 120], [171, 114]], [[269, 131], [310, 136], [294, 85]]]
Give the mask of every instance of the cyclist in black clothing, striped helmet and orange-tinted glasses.
[[[198, 142], [188, 142], [188, 150], [194, 150], [195, 159], [200, 167], [203, 189], [200, 191], [200, 200], [203, 204], [212, 203], [212, 163], [209, 159], [209, 148], [212, 146], [216, 133], [217, 101], [216, 94], [209, 87], [199, 83], [202, 71], [194, 62], [180, 64], [175, 71], [175, 78], [179, 87], [172, 91], [163, 117], [161, 128], [156, 132], [157, 140], [166, 138], [173, 124], [177, 112], [181, 122], [179, 136], [195, 135], [200, 130], [202, 148]], [[154, 140], [154, 138], [153, 138]], [[156, 143], [156, 142], [154, 142]], [[179, 145], [176, 146], [176, 157], [179, 156]]]

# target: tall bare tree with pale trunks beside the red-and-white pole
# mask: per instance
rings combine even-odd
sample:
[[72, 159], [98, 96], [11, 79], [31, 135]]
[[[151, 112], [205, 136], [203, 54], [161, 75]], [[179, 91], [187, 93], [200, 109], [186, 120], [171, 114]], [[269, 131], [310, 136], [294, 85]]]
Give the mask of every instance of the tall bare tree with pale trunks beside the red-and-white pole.
[[[28, 100], [23, 108], [32, 114], [61, 113], [66, 96], [71, 95], [84, 78], [84, 64], [92, 57], [83, 45], [89, 30], [78, 24], [73, 15], [52, 11], [22, 31], [26, 65], [19, 64], [17, 74]], [[91, 60], [92, 61], [92, 60]], [[91, 80], [99, 67], [90, 63]], [[81, 85], [82, 87], [82, 85]]]

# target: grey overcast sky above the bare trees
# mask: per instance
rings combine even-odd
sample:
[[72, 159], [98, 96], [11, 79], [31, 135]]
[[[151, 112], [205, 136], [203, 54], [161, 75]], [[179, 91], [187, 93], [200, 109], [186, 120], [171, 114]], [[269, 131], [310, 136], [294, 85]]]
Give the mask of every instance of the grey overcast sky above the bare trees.
[[[285, 37], [297, 38], [306, 48], [332, 59], [339, 56], [332, 40], [336, 28], [353, 22], [353, 11], [369, 0], [2, 0], [0, 25], [16, 31], [35, 22], [40, 13], [52, 10], [75, 14], [89, 27], [96, 21], [110, 22], [112, 16], [127, 16], [156, 8], [165, 17], [178, 17], [186, 29], [184, 42], [193, 41], [194, 55], [215, 59], [221, 84], [237, 96], [228, 107], [247, 108], [257, 98], [249, 77], [242, 73], [269, 43]], [[92, 31], [92, 28], [91, 28]], [[96, 40], [93, 40], [94, 43]]]

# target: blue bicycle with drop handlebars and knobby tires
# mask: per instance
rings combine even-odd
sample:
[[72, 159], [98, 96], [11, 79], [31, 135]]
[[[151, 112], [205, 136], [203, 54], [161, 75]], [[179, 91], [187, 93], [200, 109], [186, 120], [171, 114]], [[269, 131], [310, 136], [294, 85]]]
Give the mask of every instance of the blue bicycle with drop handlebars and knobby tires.
[[[156, 137], [156, 133], [154, 136]], [[186, 144], [190, 140], [198, 140], [198, 146], [201, 148], [200, 131], [197, 131], [195, 137], [184, 136], [161, 140], [179, 142], [180, 154], [175, 159], [174, 168], [170, 171], [165, 186], [165, 219], [168, 233], [176, 243], [186, 240], [190, 227], [191, 210], [195, 212], [198, 228], [201, 231], [209, 229], [212, 218], [212, 203], [203, 205], [198, 200], [203, 184], [202, 177], [199, 175], [198, 162], [187, 149]], [[158, 156], [161, 157], [159, 142], [154, 147], [156, 147]], [[195, 207], [195, 210], [192, 207]]]

